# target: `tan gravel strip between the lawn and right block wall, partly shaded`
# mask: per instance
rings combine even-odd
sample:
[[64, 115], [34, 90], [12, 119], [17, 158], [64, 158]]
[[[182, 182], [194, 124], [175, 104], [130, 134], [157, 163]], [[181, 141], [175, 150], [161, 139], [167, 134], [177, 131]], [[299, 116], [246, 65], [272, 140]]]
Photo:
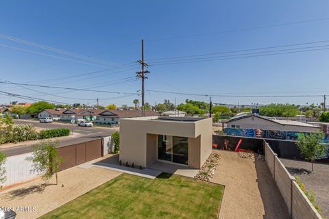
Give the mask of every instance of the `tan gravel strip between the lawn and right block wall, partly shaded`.
[[221, 154], [212, 182], [225, 185], [219, 218], [289, 218], [287, 206], [266, 162]]

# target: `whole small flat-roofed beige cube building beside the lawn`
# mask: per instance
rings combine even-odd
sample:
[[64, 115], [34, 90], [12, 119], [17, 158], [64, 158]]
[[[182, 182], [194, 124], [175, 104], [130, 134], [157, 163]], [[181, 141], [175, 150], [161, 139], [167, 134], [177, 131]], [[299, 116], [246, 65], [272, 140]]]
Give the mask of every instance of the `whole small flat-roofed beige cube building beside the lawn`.
[[212, 151], [212, 119], [147, 116], [120, 122], [121, 162], [156, 162], [201, 168]]

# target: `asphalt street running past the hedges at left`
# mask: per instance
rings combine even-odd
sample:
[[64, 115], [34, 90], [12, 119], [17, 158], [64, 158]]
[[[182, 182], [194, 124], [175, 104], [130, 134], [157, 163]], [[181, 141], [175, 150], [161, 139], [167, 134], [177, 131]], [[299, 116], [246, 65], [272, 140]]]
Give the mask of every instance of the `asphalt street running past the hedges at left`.
[[[41, 129], [55, 129], [55, 128], [67, 128], [72, 131], [73, 133], [77, 133], [78, 135], [73, 138], [60, 140], [60, 146], [67, 146], [71, 144], [79, 144], [82, 142], [88, 142], [90, 140], [95, 140], [97, 138], [102, 138], [106, 136], [110, 136], [111, 133], [117, 131], [117, 129], [106, 128], [106, 127], [78, 127], [77, 125], [70, 125], [70, 124], [62, 124], [62, 123], [39, 123], [35, 120], [15, 120], [15, 124], [32, 124], [36, 128]], [[20, 144], [19, 146], [12, 146], [8, 149], [1, 149], [0, 151], [5, 153], [8, 157], [19, 155], [23, 153], [32, 152], [32, 144]]]

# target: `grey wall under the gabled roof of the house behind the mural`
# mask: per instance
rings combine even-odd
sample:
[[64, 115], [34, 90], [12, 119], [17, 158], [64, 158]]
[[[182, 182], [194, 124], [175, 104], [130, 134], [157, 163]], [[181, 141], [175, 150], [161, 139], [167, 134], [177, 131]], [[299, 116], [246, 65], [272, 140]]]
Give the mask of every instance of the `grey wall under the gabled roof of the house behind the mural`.
[[[253, 120], [254, 119], [254, 120]], [[250, 116], [247, 118], [241, 118], [227, 123], [228, 127], [232, 125], [239, 125], [240, 129], [267, 129], [267, 130], [278, 130], [278, 131], [318, 131], [317, 127], [299, 127], [295, 125], [281, 125], [273, 123], [269, 120], [258, 118], [256, 116]]]

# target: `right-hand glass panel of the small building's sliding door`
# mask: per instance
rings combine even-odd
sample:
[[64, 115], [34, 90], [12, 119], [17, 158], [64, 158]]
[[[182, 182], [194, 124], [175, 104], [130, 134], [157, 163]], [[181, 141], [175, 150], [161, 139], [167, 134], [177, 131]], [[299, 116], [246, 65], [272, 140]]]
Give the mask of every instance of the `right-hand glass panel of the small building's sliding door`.
[[188, 165], [188, 138], [173, 136], [173, 162]]

